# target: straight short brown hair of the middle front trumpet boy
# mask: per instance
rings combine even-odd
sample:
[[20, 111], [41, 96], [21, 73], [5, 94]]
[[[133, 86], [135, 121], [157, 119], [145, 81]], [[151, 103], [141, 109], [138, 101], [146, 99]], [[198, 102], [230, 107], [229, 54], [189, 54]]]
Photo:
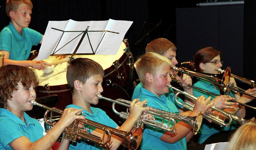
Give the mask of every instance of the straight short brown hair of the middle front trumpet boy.
[[71, 93], [74, 92], [74, 81], [78, 80], [83, 84], [87, 79], [95, 75], [104, 76], [104, 69], [96, 61], [89, 58], [76, 58], [68, 61], [67, 81]]

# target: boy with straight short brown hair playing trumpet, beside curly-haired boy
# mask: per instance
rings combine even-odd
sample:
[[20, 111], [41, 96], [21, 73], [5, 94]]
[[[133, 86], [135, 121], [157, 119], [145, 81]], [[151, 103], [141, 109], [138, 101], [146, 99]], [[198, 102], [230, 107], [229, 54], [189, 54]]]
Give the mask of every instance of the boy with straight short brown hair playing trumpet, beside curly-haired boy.
[[[143, 107], [146, 103], [144, 101], [138, 101], [134, 99], [130, 103], [130, 115], [127, 120], [118, 126], [104, 111], [99, 108], [91, 107], [91, 105], [97, 105], [99, 99], [98, 95], [103, 92], [102, 81], [104, 76], [104, 70], [102, 66], [96, 61], [88, 58], [76, 58], [68, 61], [67, 68], [67, 80], [72, 93], [72, 105], [68, 105], [66, 108], [83, 109], [83, 113], [88, 120], [110, 126], [122, 131], [130, 132], [141, 116], [143, 111], [148, 110], [148, 107]], [[113, 93], [114, 94], [114, 93]], [[143, 117], [148, 119], [154, 119], [150, 114], [145, 114]], [[103, 137], [104, 131], [99, 128], [93, 128], [92, 126], [86, 126], [90, 134]], [[103, 139], [104, 141], [106, 139]], [[122, 143], [123, 139], [111, 134], [112, 144], [107, 149], [117, 149]], [[110, 142], [110, 143], [111, 143]], [[77, 149], [103, 149], [99, 145], [86, 140], [78, 140], [78, 142], [70, 142], [69, 150]]]

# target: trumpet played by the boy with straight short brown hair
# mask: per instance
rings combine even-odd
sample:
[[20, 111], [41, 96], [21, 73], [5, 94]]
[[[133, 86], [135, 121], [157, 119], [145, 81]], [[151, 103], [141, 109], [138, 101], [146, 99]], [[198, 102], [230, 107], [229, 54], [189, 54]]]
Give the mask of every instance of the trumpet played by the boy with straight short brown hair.
[[[112, 110], [114, 111], [114, 113], [118, 114], [120, 116], [120, 118], [123, 118], [123, 119], [128, 118], [129, 113], [116, 111], [115, 104], [123, 105], [125, 107], [130, 108], [131, 101], [124, 100], [124, 99], [113, 100], [113, 99], [103, 97], [102, 95], [98, 95], [98, 98], [112, 102], [113, 103]], [[147, 106], [144, 106], [144, 107], [147, 107]], [[162, 118], [162, 122], [148, 120], [146, 118], [143, 118], [143, 119], [140, 118], [138, 120], [136, 126], [140, 126], [143, 128], [144, 124], [147, 124], [147, 125], [153, 126], [154, 128], [159, 128], [161, 130], [175, 133], [176, 132], [176, 121], [174, 119], [177, 119], [177, 120], [180, 120], [180, 121], [183, 121], [183, 122], [189, 124], [193, 128], [193, 133], [197, 134], [200, 129], [200, 126], [202, 124], [202, 116], [203, 116], [202, 112], [198, 113], [197, 116], [183, 116], [181, 114], [174, 114], [174, 113], [170, 113], [168, 111], [163, 111], [163, 110], [155, 109], [152, 107], [150, 107], [150, 109], [148, 111], [144, 111], [144, 112]], [[167, 125], [164, 124], [165, 120], [166, 120], [166, 122], [168, 122]], [[170, 127], [171, 122], [173, 123], [172, 128]]]

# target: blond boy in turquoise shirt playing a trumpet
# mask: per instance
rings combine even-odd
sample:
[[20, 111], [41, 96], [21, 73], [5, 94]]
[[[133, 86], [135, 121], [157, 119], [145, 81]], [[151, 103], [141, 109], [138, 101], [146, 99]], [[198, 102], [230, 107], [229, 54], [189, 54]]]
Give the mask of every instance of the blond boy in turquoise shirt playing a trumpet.
[[[147, 106], [149, 107], [179, 114], [174, 100], [165, 96], [165, 94], [169, 92], [168, 85], [170, 85], [172, 81], [172, 67], [172, 62], [162, 55], [153, 52], [142, 55], [135, 63], [135, 69], [143, 85], [143, 87], [140, 88], [139, 99], [140, 101], [147, 99]], [[209, 103], [209, 101], [210, 98], [206, 99], [204, 96], [200, 96], [192, 112], [184, 112], [181, 114], [197, 116], [200, 111], [205, 113], [209, 107], [214, 105], [214, 103]], [[157, 117], [156, 120], [162, 121], [161, 118]], [[178, 122], [178, 120], [176, 120], [176, 122]], [[192, 128], [186, 124], [186, 122], [182, 121], [176, 123], [176, 126], [177, 131], [174, 134], [152, 128], [151, 126], [145, 126], [140, 149], [186, 150], [186, 142], [194, 135]]]

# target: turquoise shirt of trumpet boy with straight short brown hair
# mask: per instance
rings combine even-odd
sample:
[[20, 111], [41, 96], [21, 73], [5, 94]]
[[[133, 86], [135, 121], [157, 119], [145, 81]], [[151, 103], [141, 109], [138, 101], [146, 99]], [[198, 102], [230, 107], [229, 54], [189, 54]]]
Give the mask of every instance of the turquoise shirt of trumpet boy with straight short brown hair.
[[[66, 108], [73, 107], [75, 109], [82, 109], [77, 105], [68, 105]], [[92, 120], [98, 122], [100, 124], [104, 124], [106, 126], [110, 126], [112, 128], [116, 128], [118, 125], [114, 122], [102, 109], [91, 107], [92, 114], [86, 110], [83, 110], [84, 116], [88, 120]], [[92, 132], [95, 127], [88, 126], [84, 124], [86, 128], [89, 128], [88, 132]], [[98, 146], [94, 142], [90, 142], [88, 140], [78, 140], [77, 142], [70, 142], [69, 150], [104, 150], [104, 148]]]

